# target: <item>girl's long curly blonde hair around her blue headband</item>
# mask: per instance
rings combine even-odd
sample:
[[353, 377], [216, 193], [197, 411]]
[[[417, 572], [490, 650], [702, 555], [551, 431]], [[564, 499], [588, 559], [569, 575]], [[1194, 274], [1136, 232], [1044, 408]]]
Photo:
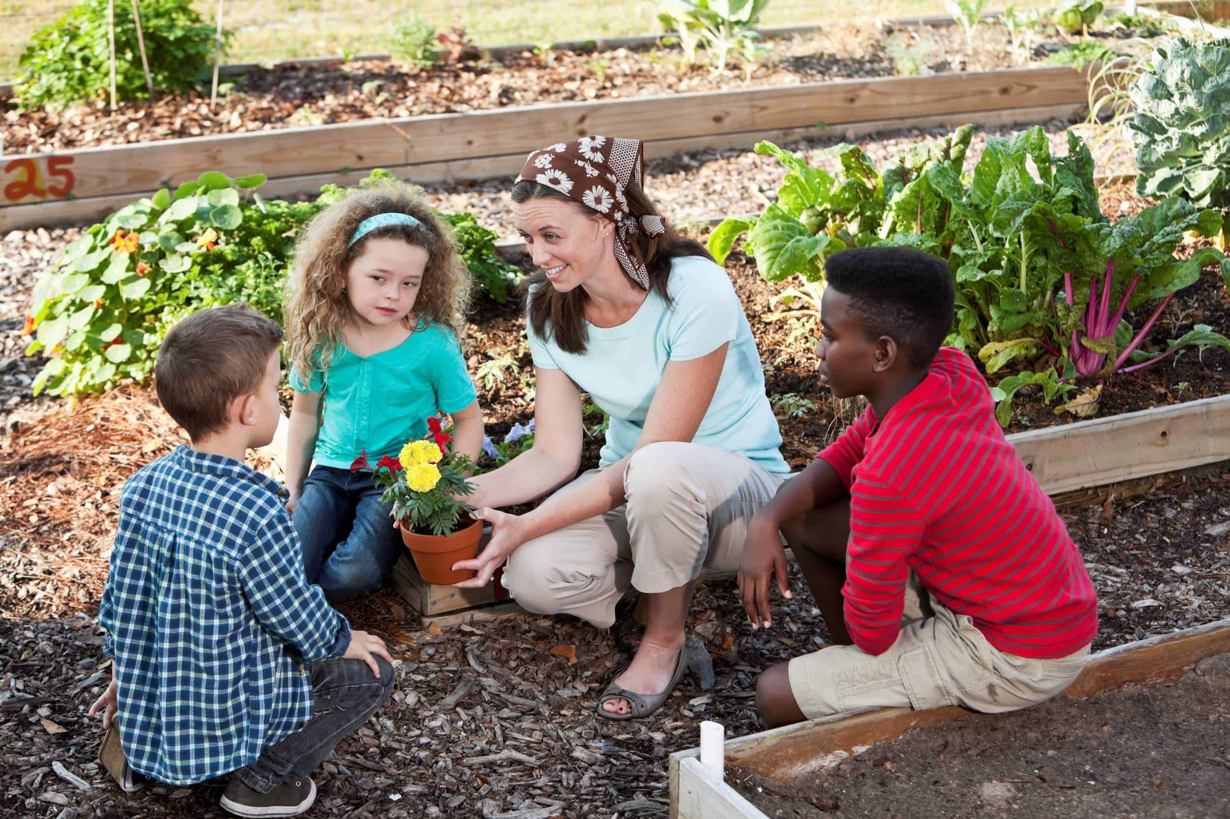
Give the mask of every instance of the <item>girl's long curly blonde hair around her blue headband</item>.
[[[348, 245], [359, 223], [381, 213], [403, 213], [421, 225], [386, 225]], [[364, 187], [312, 216], [295, 241], [285, 289], [287, 362], [308, 382], [325, 373], [342, 343], [351, 315], [346, 271], [373, 239], [402, 239], [427, 251], [427, 268], [415, 310], [406, 317], [427, 318], [461, 338], [472, 279], [453, 243], [453, 234], [427, 205], [422, 191], [396, 180]]]

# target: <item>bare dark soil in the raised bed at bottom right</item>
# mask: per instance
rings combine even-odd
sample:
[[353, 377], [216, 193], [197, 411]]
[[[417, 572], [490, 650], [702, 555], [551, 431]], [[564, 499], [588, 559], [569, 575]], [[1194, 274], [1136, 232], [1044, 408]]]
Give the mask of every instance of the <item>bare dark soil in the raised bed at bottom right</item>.
[[1230, 654], [1170, 686], [1057, 697], [924, 728], [806, 781], [732, 770], [771, 819], [1230, 815]]

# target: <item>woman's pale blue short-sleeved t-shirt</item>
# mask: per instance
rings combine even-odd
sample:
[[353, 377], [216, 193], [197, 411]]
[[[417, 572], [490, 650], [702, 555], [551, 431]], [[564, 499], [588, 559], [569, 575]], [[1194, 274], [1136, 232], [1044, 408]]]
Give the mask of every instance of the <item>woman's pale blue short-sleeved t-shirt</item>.
[[745, 455], [769, 472], [790, 472], [765, 396], [760, 353], [726, 271], [701, 256], [676, 258], [667, 291], [670, 306], [651, 290], [636, 315], [617, 327], [587, 322], [589, 343], [579, 355], [560, 349], [550, 327], [544, 339], [526, 326], [534, 366], [563, 370], [610, 414], [600, 454], [600, 465], [608, 466], [636, 446], [667, 362], [701, 358], [729, 342], [692, 443]]

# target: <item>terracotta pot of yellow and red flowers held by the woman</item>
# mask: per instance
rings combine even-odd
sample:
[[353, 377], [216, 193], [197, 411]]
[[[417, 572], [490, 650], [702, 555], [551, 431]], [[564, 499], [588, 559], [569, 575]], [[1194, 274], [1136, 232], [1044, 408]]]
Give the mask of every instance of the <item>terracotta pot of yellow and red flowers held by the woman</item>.
[[470, 459], [449, 453], [453, 438], [438, 418], [428, 418], [427, 424], [427, 439], [407, 443], [397, 457], [385, 455], [373, 466], [364, 450], [351, 470], [373, 473], [376, 486], [384, 488], [380, 501], [392, 507], [418, 573], [428, 583], [446, 585], [474, 577], [474, 572], [454, 572], [453, 564], [478, 556], [482, 521], [454, 497], [474, 492], [466, 480]]

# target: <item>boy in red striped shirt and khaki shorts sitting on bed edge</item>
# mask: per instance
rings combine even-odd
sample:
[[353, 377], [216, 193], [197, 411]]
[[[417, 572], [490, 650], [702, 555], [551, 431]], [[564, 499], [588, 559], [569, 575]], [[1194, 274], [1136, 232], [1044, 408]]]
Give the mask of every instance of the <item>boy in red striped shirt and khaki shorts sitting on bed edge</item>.
[[[833, 646], [765, 670], [769, 726], [854, 708], [1012, 711], [1080, 674], [1097, 598], [1050, 498], [995, 421], [952, 327], [948, 266], [904, 247], [825, 264], [820, 381], [862, 417], [749, 525], [739, 590], [753, 628], [793, 548]], [[779, 532], [781, 536], [779, 536]]]

